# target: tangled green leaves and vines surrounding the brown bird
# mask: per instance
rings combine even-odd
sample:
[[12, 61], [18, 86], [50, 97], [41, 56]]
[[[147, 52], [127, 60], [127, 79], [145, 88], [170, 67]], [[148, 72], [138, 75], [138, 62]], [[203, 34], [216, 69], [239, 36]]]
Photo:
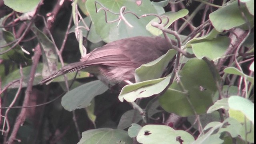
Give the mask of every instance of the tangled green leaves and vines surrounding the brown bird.
[[[0, 8], [0, 143], [254, 143], [254, 0], [4, 0]], [[137, 68], [136, 83], [108, 90], [80, 71], [39, 84], [86, 48], [134, 36], [172, 47]]]

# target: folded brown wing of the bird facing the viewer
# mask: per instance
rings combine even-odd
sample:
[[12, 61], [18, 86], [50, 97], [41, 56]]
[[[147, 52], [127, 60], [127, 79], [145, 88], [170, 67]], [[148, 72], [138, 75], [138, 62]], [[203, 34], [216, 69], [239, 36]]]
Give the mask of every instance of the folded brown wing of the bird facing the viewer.
[[138, 67], [159, 58], [168, 50], [168, 42], [164, 38], [138, 36], [110, 42], [96, 48], [80, 61], [85, 65]]

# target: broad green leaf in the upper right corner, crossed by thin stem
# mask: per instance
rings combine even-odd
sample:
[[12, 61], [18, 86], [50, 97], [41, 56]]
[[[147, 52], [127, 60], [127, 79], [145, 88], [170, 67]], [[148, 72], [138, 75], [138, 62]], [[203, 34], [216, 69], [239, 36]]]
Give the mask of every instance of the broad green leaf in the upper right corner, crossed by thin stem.
[[[254, 25], [254, 16], [252, 16], [244, 4], [241, 5], [241, 11], [244, 12], [248, 21]], [[246, 24], [237, 1], [227, 4], [209, 15], [210, 21], [216, 30], [222, 32], [231, 28]]]

